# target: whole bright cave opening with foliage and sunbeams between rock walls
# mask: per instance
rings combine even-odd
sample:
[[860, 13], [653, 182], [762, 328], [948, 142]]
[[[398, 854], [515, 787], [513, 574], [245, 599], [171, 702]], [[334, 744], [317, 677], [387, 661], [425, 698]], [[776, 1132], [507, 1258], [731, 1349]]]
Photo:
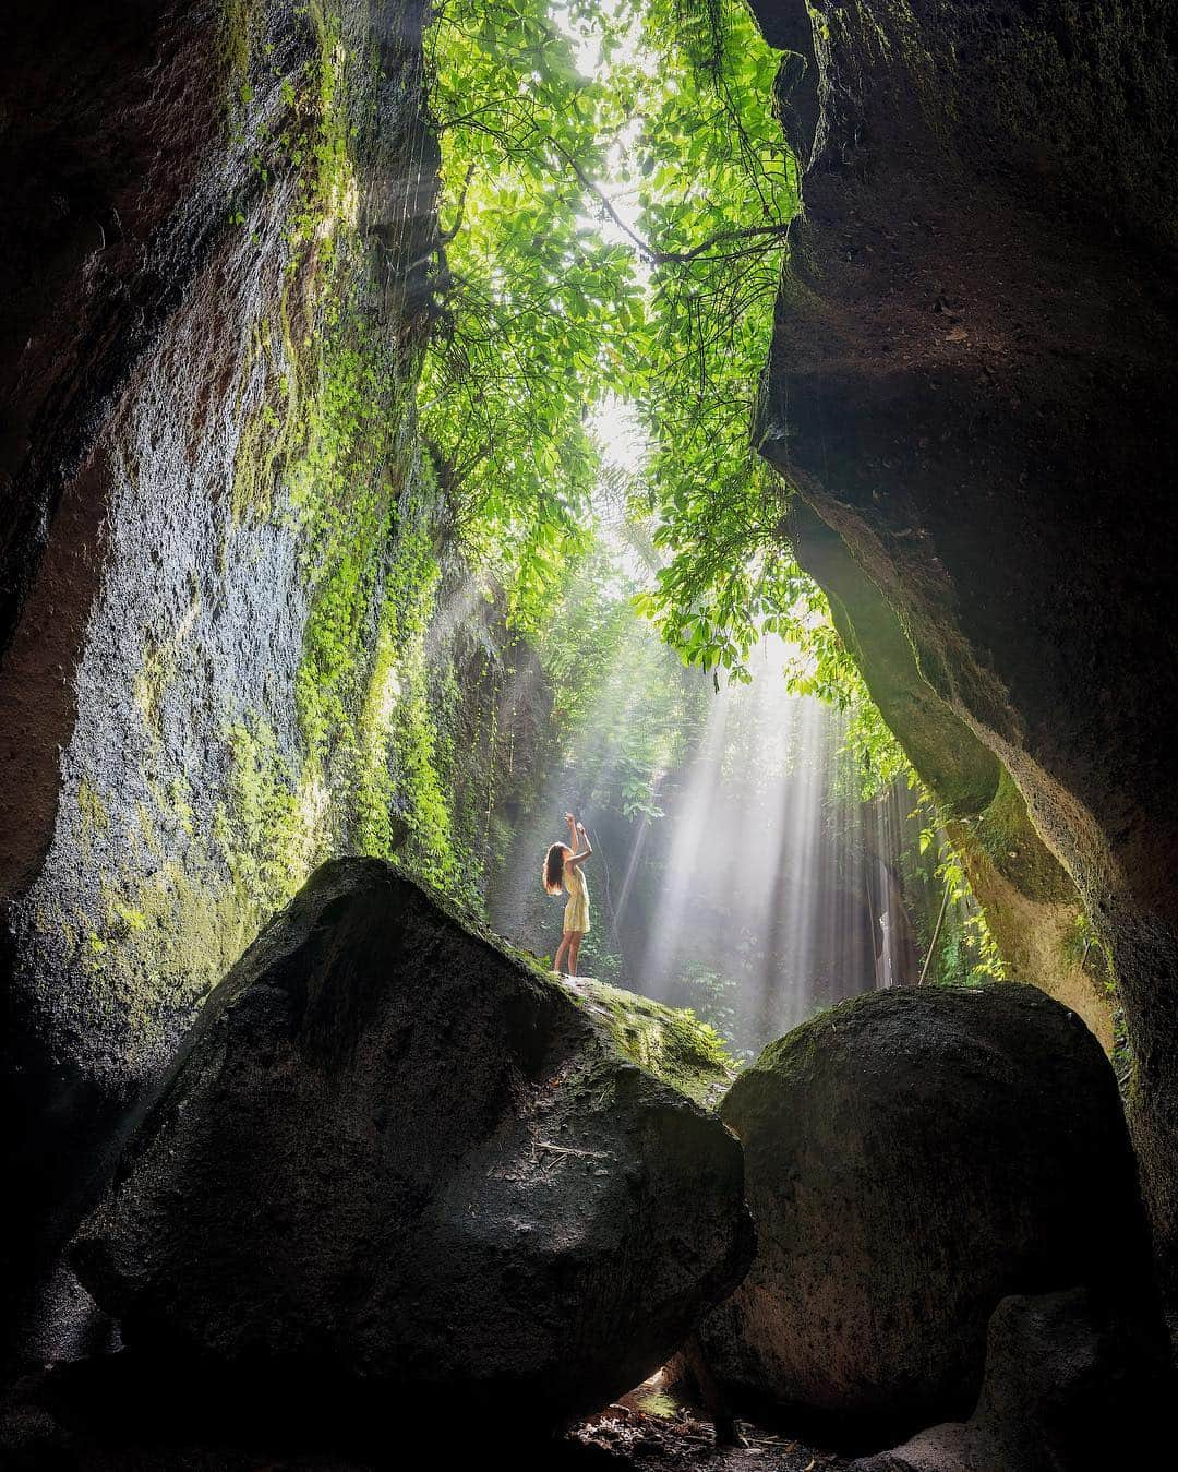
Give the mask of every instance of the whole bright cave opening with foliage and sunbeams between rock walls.
[[[531, 18], [538, 32], [472, 18], [443, 12], [426, 43], [453, 224], [425, 427], [453, 495], [476, 499], [471, 481], [494, 477], [494, 514], [515, 518], [509, 580], [535, 514], [513, 434], [532, 458], [547, 439], [568, 498], [566, 564], [529, 626], [560, 670], [560, 749], [490, 866], [504, 870], [491, 921], [553, 952], [529, 855], [575, 805], [597, 835], [607, 920], [584, 964], [693, 1005], [740, 1055], [871, 986], [1003, 974], [932, 796], [832, 658], [822, 593], [781, 530], [785, 486], [757, 455], [757, 365], [797, 208], [777, 53], [741, 6], [694, 21], [556, 7]], [[543, 365], [518, 322], [544, 334]], [[500, 383], [516, 356], [572, 392], [547, 402], [526, 375]], [[578, 499], [563, 477], [582, 422]]]

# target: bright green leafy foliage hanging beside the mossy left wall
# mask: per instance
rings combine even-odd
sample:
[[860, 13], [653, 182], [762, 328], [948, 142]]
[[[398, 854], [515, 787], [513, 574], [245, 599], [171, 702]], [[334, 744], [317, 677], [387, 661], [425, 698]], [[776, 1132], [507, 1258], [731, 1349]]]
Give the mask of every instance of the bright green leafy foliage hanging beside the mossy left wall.
[[534, 624], [584, 545], [585, 408], [641, 315], [631, 253], [584, 218], [578, 175], [603, 163], [613, 102], [537, 0], [446, 0], [429, 63], [446, 230], [422, 427], [456, 530]]

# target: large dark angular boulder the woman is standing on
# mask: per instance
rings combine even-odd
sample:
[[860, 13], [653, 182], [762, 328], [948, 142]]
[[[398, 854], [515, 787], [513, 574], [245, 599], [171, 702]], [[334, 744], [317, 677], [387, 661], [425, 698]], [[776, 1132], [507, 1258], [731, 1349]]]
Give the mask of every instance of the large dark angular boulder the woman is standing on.
[[596, 1410], [743, 1276], [741, 1151], [585, 1002], [376, 860], [212, 994], [75, 1244], [132, 1354]]

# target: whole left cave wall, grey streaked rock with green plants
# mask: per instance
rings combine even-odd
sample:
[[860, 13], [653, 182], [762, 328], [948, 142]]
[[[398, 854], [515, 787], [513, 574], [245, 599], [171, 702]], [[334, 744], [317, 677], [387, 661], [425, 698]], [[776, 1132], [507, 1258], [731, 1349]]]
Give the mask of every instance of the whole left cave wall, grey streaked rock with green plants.
[[422, 19], [6, 13], [3, 1276], [38, 1356], [82, 1347], [43, 1270], [209, 986], [319, 858], [441, 845], [397, 821], [438, 755]]

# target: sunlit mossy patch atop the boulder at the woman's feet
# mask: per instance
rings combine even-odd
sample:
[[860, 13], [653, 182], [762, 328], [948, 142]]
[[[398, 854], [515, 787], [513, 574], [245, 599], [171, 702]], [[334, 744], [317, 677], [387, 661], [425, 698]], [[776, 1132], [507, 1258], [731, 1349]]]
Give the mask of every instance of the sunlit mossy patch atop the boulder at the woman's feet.
[[569, 985], [631, 1061], [697, 1104], [719, 1103], [735, 1078], [737, 1064], [715, 1027], [690, 1010], [665, 1007], [604, 982]]

